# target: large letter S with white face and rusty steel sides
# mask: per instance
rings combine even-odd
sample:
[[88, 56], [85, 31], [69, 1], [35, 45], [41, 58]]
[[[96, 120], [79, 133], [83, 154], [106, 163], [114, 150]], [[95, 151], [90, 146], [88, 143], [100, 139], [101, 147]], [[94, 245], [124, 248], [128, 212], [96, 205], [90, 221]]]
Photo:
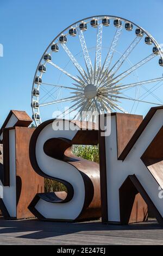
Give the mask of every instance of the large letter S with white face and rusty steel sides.
[[98, 131], [80, 130], [80, 122], [55, 119], [39, 125], [32, 135], [29, 154], [35, 172], [67, 188], [67, 193], [36, 194], [29, 210], [41, 220], [101, 217], [99, 164], [73, 155], [73, 144], [98, 144]]

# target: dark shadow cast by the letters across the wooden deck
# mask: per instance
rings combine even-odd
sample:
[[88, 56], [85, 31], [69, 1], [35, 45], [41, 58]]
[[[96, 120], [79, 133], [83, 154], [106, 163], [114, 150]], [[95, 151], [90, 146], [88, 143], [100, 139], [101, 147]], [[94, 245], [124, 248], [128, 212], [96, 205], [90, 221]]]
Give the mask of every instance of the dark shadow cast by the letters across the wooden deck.
[[[87, 241], [91, 236], [100, 237], [101, 244], [103, 243], [103, 237], [128, 237], [128, 241], [131, 238], [143, 240], [162, 240], [163, 244], [163, 227], [151, 220], [143, 223], [120, 225], [120, 224], [102, 224], [101, 221], [80, 222], [80, 223], [65, 223], [65, 222], [42, 222], [36, 219], [11, 221], [3, 220], [0, 218], [0, 236], [15, 234], [17, 239], [25, 240], [41, 240], [61, 237], [65, 235], [85, 235]], [[78, 237], [78, 236], [76, 236]], [[79, 237], [80, 240], [80, 237]], [[51, 240], [52, 241], [52, 240]], [[119, 241], [119, 240], [118, 240]], [[80, 241], [81, 242], [81, 241]], [[46, 243], [48, 241], [46, 240]], [[64, 243], [64, 240], [63, 240]], [[105, 241], [104, 241], [105, 243]], [[90, 242], [91, 244], [91, 242]], [[96, 244], [96, 243], [95, 243]], [[114, 243], [111, 243], [114, 244]]]

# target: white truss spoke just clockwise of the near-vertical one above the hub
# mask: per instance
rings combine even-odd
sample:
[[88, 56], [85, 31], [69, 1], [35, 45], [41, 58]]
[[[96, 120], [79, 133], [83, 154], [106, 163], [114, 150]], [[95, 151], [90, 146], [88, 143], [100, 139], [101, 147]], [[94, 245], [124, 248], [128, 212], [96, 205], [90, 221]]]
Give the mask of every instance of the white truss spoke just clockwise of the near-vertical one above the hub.
[[104, 60], [102, 71], [105, 70], [105, 69], [109, 69], [112, 57], [114, 56], [114, 52], [115, 52], [116, 46], [118, 44], [118, 41], [120, 39], [120, 35], [122, 33], [122, 30], [123, 30], [123, 25], [116, 29], [114, 38], [112, 39], [112, 42], [111, 42], [111, 46], [110, 46], [109, 52], [106, 55], [106, 58]]

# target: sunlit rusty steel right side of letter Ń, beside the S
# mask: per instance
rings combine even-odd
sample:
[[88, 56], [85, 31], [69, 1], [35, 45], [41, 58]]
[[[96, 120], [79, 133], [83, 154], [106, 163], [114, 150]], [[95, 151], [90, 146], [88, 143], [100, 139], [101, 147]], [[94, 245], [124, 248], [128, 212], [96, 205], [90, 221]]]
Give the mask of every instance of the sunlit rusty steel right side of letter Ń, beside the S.
[[44, 192], [44, 179], [33, 170], [29, 160], [29, 142], [34, 130], [15, 127], [17, 219], [34, 217], [28, 205], [36, 193]]

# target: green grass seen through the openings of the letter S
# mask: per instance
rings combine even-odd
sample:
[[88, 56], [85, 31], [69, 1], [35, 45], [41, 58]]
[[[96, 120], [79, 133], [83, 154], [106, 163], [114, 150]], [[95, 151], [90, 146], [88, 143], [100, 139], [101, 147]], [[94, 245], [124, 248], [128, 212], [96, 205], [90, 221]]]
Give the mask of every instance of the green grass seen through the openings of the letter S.
[[[72, 152], [76, 156], [99, 163], [98, 146], [73, 145]], [[45, 192], [53, 191], [66, 191], [66, 187], [55, 180], [45, 179]]]

